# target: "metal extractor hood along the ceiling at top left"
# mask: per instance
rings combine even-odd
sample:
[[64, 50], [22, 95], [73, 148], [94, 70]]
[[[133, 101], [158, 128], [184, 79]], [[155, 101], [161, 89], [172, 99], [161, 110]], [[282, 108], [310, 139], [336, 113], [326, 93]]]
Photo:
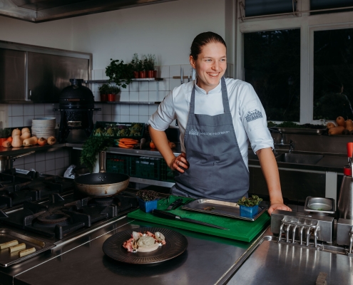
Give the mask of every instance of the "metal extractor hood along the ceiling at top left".
[[41, 23], [175, 0], [0, 0], [0, 16]]

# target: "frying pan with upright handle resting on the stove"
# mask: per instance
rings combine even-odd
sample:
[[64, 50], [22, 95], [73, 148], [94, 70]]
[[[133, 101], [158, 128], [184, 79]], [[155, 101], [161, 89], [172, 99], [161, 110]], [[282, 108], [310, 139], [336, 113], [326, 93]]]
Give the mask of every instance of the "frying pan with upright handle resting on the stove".
[[126, 190], [130, 177], [119, 173], [106, 173], [106, 152], [99, 153], [99, 173], [81, 175], [74, 182], [80, 192], [90, 197], [109, 197]]

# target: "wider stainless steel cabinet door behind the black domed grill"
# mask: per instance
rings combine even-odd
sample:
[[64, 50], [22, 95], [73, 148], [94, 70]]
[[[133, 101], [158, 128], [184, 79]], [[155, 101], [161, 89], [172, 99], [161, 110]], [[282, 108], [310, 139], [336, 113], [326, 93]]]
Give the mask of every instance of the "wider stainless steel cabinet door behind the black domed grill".
[[70, 78], [88, 80], [89, 60], [28, 52], [29, 98], [38, 103], [56, 103]]

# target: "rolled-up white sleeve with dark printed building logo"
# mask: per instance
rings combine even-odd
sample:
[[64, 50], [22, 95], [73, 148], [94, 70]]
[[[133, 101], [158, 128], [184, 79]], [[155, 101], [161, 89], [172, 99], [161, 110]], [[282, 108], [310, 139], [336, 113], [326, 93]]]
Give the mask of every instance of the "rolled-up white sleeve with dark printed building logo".
[[265, 109], [250, 84], [242, 88], [240, 116], [252, 150], [256, 153], [262, 148], [272, 147], [273, 149], [273, 139], [267, 128]]

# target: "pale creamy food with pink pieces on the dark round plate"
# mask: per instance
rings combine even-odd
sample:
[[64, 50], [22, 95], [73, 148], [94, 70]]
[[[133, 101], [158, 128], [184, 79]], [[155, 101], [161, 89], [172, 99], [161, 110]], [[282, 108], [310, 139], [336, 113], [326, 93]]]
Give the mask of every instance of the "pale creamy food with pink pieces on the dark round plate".
[[123, 242], [128, 252], [153, 252], [165, 244], [165, 237], [161, 232], [133, 232], [131, 238]]

